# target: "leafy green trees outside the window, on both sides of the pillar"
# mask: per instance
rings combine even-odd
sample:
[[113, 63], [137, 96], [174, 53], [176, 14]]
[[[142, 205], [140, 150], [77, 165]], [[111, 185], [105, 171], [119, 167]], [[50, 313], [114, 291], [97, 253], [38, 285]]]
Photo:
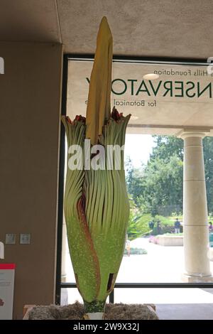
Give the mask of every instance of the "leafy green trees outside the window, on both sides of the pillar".
[[[126, 166], [127, 188], [143, 213], [171, 215], [182, 212], [183, 141], [175, 136], [154, 136], [155, 147], [146, 166]], [[213, 212], [213, 138], [205, 137], [204, 166], [209, 213]]]

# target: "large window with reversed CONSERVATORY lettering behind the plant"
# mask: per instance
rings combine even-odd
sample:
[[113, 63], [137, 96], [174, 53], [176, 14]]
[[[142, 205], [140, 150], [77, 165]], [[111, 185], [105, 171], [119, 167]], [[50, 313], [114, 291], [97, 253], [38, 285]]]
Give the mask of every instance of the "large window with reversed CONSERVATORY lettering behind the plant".
[[[63, 112], [70, 119], [86, 114], [91, 70], [91, 58], [65, 57]], [[114, 60], [112, 73], [111, 106], [132, 116], [125, 146], [131, 215], [116, 280], [121, 289], [111, 301], [122, 301], [126, 289], [125, 301], [137, 302], [129, 287], [211, 286], [213, 76], [204, 63], [162, 60]], [[61, 151], [57, 294], [62, 289], [62, 303], [71, 303], [81, 297], [62, 215]]]

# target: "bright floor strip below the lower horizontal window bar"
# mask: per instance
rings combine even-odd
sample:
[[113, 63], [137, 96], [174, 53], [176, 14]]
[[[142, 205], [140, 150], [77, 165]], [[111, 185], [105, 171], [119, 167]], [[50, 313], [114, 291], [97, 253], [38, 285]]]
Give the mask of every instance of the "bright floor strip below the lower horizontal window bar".
[[[82, 302], [77, 289], [62, 289], [62, 304]], [[213, 320], [213, 289], [115, 289], [115, 303], [154, 303], [160, 320]]]

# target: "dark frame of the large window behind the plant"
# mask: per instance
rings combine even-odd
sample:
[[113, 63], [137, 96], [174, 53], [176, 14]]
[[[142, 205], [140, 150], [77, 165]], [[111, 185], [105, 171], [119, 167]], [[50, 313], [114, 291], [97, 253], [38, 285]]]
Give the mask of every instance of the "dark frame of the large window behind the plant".
[[[67, 80], [68, 80], [68, 62], [69, 60], [94, 60], [93, 54], [71, 54], [67, 53], [63, 58], [62, 71], [62, 103], [61, 115], [67, 114]], [[153, 63], [171, 65], [209, 65], [205, 59], [189, 58], [161, 58], [161, 57], [133, 57], [116, 55], [113, 60], [119, 62], [133, 63]], [[60, 305], [61, 289], [77, 288], [75, 283], [61, 282], [61, 264], [62, 264], [62, 224], [63, 224], [63, 200], [64, 200], [64, 171], [65, 171], [65, 129], [60, 126], [60, 158], [58, 174], [58, 237], [57, 237], [57, 259], [56, 259], [56, 277], [55, 277], [55, 303]], [[213, 288], [213, 283], [116, 283], [114, 289], [138, 289], [138, 288]], [[109, 295], [109, 302], [114, 303], [114, 290]]]

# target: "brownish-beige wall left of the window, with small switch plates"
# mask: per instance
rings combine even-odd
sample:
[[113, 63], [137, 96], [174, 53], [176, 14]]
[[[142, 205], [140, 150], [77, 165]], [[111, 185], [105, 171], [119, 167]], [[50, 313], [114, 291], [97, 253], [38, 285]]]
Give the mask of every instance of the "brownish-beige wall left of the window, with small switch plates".
[[[53, 303], [62, 45], [0, 43], [0, 241], [16, 264], [13, 318], [23, 305]], [[31, 233], [31, 244], [19, 234]]]

